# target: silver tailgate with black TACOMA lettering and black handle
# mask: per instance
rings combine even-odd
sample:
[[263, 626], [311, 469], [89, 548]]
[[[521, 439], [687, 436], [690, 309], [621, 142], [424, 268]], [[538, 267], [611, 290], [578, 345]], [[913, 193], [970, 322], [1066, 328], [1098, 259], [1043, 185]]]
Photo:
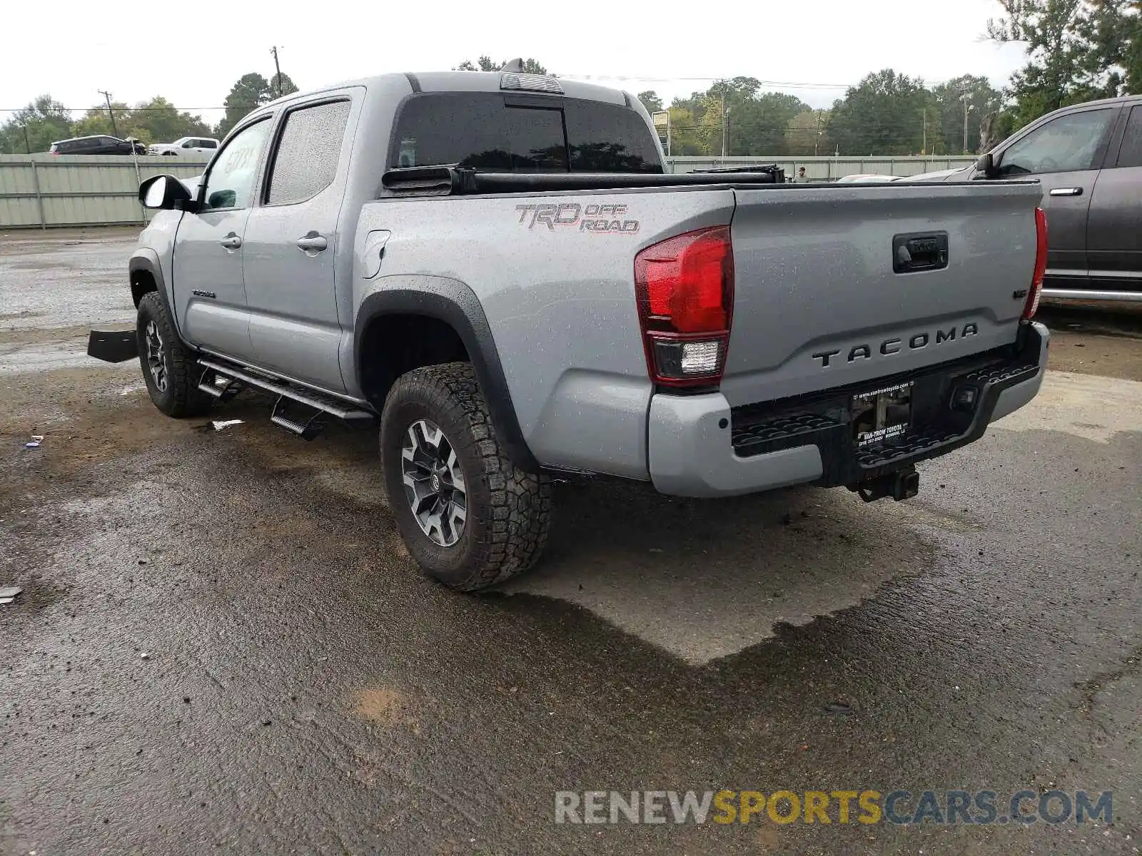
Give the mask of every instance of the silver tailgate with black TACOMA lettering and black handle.
[[731, 406], [872, 381], [1015, 340], [1018, 292], [1035, 268], [1038, 183], [734, 194], [722, 380]]

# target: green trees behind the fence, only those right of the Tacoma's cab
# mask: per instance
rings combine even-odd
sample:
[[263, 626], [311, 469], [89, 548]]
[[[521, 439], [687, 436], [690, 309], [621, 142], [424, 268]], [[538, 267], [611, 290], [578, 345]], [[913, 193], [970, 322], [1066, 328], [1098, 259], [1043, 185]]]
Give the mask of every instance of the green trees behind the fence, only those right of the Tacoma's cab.
[[986, 152], [1059, 107], [1142, 92], [1142, 0], [999, 1], [1006, 15], [987, 22], [987, 37], [1027, 54], [1002, 90], [974, 74], [927, 87], [885, 68], [828, 110], [763, 92], [754, 78], [669, 106], [653, 91], [638, 98], [669, 113], [671, 154], [863, 156]]

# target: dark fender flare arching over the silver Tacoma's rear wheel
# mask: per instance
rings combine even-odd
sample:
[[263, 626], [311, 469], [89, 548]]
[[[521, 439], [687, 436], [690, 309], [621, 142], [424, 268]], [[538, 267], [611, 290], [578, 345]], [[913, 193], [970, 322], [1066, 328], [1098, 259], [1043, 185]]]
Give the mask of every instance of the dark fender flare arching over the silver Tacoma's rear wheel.
[[363, 388], [364, 332], [373, 320], [384, 315], [425, 315], [443, 321], [459, 334], [468, 352], [496, 435], [512, 463], [538, 473], [539, 461], [523, 438], [488, 316], [475, 292], [466, 283], [443, 276], [386, 276], [377, 285], [378, 290], [361, 301], [353, 325], [353, 372], [357, 388]]

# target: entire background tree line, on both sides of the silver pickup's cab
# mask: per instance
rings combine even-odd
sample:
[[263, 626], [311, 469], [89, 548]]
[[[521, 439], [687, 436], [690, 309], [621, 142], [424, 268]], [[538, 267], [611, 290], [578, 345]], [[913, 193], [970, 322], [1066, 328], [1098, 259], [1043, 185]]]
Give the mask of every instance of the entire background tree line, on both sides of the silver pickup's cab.
[[[907, 155], [982, 152], [1045, 113], [1094, 98], [1142, 92], [1142, 0], [999, 0], [987, 38], [1024, 47], [1026, 65], [996, 89], [974, 74], [938, 86], [884, 68], [868, 74], [826, 110], [787, 92], [763, 91], [756, 78], [715, 81], [668, 106], [654, 91], [638, 94], [652, 113], [669, 114], [676, 155]], [[456, 70], [494, 71], [489, 55]], [[523, 71], [547, 74], [534, 58]], [[134, 107], [112, 102], [73, 120], [43, 95], [0, 126], [0, 152], [42, 152], [53, 140], [89, 134], [144, 143], [187, 136], [223, 137], [255, 107], [297, 91], [288, 75], [251, 72], [225, 99], [210, 127], [162, 97]], [[664, 130], [664, 137], [665, 137]]]

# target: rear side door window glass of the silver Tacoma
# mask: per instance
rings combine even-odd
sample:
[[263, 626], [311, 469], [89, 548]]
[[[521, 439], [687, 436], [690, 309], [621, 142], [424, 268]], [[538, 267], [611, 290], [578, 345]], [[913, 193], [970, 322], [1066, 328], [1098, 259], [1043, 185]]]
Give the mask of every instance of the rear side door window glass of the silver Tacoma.
[[286, 116], [270, 173], [268, 204], [304, 202], [333, 183], [348, 118], [348, 102], [301, 107]]

